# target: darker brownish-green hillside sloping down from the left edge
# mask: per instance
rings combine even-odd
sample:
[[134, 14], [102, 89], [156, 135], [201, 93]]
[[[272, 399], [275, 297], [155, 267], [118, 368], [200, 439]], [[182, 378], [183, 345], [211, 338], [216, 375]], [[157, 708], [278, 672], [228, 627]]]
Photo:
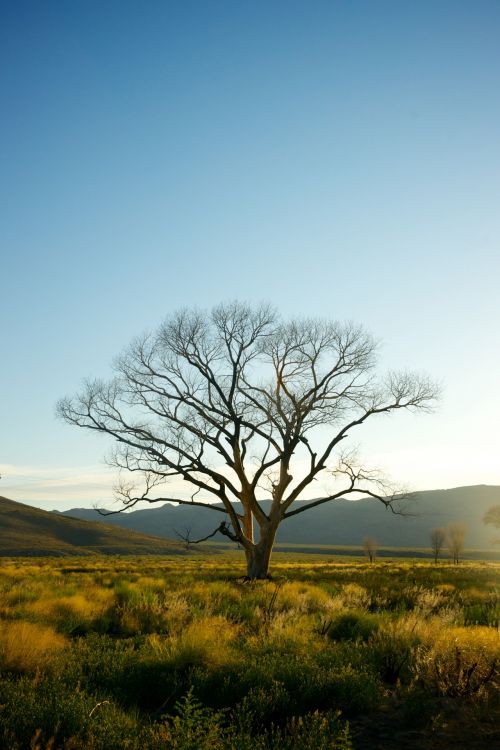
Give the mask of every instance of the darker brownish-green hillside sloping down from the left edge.
[[182, 545], [0, 497], [0, 555], [185, 554]]

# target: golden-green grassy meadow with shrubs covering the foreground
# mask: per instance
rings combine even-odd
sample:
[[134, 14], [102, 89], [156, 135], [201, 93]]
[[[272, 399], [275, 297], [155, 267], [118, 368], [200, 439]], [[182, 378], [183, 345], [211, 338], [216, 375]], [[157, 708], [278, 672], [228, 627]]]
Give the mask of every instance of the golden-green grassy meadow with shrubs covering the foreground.
[[500, 564], [0, 560], [6, 750], [492, 748]]

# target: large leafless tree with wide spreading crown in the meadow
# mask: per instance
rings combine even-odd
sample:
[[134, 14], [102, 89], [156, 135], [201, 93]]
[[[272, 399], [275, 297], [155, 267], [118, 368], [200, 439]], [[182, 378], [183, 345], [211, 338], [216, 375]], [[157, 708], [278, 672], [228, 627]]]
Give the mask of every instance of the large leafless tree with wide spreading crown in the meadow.
[[[124, 508], [167, 501], [224, 514], [218, 531], [243, 547], [248, 577], [265, 578], [287, 518], [353, 493], [397, 509], [396, 488], [343, 446], [377, 415], [430, 409], [437, 387], [410, 372], [377, 379], [376, 350], [359, 326], [286, 322], [267, 305], [182, 310], [132, 342], [111, 382], [88, 381], [57, 408], [114, 438], [113, 465], [142, 475], [141, 490], [119, 486]], [[331, 489], [296, 503], [325, 476]], [[178, 491], [155, 496], [169, 482]]]

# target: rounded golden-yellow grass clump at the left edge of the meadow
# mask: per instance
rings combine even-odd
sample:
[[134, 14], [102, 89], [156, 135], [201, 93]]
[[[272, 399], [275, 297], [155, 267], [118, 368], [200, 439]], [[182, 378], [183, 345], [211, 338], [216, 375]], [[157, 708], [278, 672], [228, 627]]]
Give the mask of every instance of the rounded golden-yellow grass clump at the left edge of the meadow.
[[61, 649], [66, 639], [52, 628], [31, 622], [2, 622], [0, 627], [0, 666], [14, 672], [32, 672], [44, 667]]

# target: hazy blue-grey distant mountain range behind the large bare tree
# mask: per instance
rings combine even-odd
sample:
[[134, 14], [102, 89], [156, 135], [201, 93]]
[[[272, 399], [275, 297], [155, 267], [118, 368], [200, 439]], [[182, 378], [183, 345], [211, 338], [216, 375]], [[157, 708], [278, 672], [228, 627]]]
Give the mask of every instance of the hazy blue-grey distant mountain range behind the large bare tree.
[[[487, 549], [491, 547], [493, 533], [482, 519], [486, 510], [498, 503], [500, 487], [487, 485], [417, 492], [409, 506], [413, 517], [396, 516], [375, 500], [337, 500], [285, 521], [279, 529], [278, 541], [351, 545], [361, 544], [363, 537], [371, 535], [380, 545], [428, 547], [432, 528], [461, 521], [467, 525], [466, 546]], [[146, 510], [105, 517], [95, 510], [75, 508], [65, 515], [171, 538], [175, 537], [176, 529], [184, 532], [186, 528], [191, 529], [192, 538], [204, 536], [221, 519], [219, 513], [208, 509], [173, 505], [153, 505]]]

